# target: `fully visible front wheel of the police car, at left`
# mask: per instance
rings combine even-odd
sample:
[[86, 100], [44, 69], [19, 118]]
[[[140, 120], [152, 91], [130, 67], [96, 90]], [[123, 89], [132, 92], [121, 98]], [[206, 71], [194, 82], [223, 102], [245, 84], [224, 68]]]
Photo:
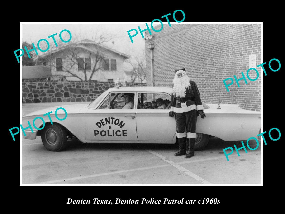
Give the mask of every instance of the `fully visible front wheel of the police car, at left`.
[[46, 125], [42, 134], [42, 144], [47, 150], [58, 152], [63, 150], [67, 143], [66, 129], [60, 124]]

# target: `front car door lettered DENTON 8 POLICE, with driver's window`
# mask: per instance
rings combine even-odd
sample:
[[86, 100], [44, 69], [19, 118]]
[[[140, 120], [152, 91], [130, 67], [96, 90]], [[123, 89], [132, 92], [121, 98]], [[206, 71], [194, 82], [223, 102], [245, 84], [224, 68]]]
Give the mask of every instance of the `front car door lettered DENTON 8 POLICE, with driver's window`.
[[[129, 92], [133, 93], [134, 92]], [[137, 138], [135, 109], [116, 108], [122, 100], [120, 93], [110, 92], [98, 109], [85, 113], [85, 136], [87, 142], [134, 141]]]

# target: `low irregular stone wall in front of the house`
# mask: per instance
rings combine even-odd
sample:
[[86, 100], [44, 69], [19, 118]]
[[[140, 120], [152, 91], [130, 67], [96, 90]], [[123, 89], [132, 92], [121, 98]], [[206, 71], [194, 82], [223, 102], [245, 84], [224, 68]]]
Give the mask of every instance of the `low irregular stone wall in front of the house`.
[[[128, 83], [129, 86], [146, 86], [146, 83]], [[78, 81], [22, 81], [23, 103], [37, 102], [81, 102], [95, 100], [114, 82]]]

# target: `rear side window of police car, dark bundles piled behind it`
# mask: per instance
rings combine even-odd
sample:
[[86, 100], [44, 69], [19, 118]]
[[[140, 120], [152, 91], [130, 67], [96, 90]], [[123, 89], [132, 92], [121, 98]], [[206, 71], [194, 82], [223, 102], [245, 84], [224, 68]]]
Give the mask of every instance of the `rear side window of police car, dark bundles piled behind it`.
[[138, 109], [170, 109], [171, 96], [159, 93], [139, 93]]

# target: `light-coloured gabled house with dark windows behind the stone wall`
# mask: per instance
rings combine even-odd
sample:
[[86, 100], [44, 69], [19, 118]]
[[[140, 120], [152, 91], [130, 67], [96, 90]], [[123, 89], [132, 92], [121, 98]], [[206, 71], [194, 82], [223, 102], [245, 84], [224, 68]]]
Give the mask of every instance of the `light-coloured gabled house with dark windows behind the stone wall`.
[[67, 80], [113, 82], [117, 78], [123, 79], [123, 62], [129, 57], [127, 54], [85, 39], [48, 51], [42, 55], [41, 64], [50, 66], [53, 76], [66, 76]]

